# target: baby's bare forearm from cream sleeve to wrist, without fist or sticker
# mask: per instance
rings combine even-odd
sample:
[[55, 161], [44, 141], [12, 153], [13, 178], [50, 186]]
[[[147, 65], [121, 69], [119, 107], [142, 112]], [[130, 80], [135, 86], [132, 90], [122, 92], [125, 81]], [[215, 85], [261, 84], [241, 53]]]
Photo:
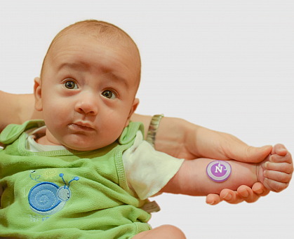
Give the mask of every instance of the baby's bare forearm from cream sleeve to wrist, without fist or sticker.
[[180, 170], [161, 189], [165, 193], [181, 193], [190, 196], [207, 196], [209, 193], [220, 193], [222, 189], [236, 190], [241, 185], [253, 186], [258, 182], [256, 164], [227, 161], [232, 172], [225, 182], [214, 182], [206, 175], [208, 163], [214, 161], [210, 158], [197, 158], [184, 161]]

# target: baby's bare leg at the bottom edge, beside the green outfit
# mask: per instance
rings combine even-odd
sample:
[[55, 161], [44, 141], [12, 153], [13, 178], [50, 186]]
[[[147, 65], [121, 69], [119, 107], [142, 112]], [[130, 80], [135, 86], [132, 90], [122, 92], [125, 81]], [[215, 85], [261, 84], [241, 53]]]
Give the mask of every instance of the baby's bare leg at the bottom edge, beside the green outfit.
[[163, 225], [150, 231], [143, 231], [132, 239], [186, 239], [185, 234], [176, 226]]

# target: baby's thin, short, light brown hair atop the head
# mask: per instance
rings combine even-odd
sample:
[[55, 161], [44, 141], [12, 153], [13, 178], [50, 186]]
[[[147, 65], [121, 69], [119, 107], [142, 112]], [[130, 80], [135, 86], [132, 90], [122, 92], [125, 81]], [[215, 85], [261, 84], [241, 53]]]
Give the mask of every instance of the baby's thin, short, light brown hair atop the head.
[[[92, 37], [94, 39], [97, 39], [98, 41], [102, 43], [110, 43], [123, 46], [133, 52], [134, 55], [137, 55], [138, 59], [135, 59], [138, 61], [139, 64], [139, 82], [140, 82], [140, 73], [141, 73], [141, 60], [140, 60], [140, 53], [138, 50], [137, 45], [131, 39], [131, 36], [128, 36], [126, 32], [124, 32], [119, 27], [116, 27], [115, 25], [112, 25], [108, 22], [98, 21], [98, 20], [84, 20], [81, 22], [76, 22], [72, 25], [69, 25], [68, 27], [65, 27], [65, 29], [62, 29], [53, 39], [51, 42], [51, 45], [48, 48], [48, 51], [46, 53], [46, 56], [44, 57], [44, 61], [42, 64], [41, 69], [41, 78], [42, 78], [42, 72], [44, 69], [44, 64], [46, 62], [46, 57], [48, 53], [50, 53], [51, 48], [54, 46], [54, 44], [60, 39], [60, 37], [65, 36], [66, 34], [69, 34], [71, 32], [77, 32], [78, 34], [82, 34], [85, 36]], [[134, 47], [135, 46], [135, 47]]]

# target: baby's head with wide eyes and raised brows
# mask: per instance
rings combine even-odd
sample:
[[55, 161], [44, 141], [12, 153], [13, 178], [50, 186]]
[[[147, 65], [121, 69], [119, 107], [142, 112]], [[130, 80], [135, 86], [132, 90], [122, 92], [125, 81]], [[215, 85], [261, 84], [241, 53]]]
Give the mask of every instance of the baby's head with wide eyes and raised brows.
[[118, 27], [88, 20], [63, 29], [35, 79], [46, 144], [80, 151], [112, 144], [138, 106], [140, 68], [137, 46]]

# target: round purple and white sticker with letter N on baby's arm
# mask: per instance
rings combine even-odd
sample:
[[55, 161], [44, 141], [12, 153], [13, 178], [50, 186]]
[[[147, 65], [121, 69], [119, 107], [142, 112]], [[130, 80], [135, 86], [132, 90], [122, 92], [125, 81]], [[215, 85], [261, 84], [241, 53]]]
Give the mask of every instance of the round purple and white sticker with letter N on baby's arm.
[[232, 167], [226, 161], [212, 161], [206, 167], [206, 174], [215, 182], [224, 182], [231, 172]]

